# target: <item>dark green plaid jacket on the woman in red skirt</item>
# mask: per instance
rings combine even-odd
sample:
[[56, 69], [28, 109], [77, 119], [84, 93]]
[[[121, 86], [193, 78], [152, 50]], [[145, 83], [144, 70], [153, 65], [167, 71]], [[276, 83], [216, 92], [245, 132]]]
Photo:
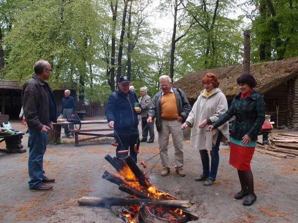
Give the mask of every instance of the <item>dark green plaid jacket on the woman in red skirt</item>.
[[230, 136], [241, 140], [247, 134], [252, 140], [256, 140], [265, 121], [263, 96], [257, 92], [253, 92], [248, 98], [241, 98], [240, 95], [241, 93], [234, 97], [228, 111], [212, 125], [217, 128], [235, 115]]

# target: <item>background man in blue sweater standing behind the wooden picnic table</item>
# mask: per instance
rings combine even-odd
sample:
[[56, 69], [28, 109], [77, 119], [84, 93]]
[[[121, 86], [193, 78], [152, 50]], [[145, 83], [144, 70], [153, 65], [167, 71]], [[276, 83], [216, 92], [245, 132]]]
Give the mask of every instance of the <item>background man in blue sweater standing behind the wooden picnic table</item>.
[[[64, 91], [64, 98], [62, 99], [62, 111], [61, 115], [63, 115], [63, 118], [66, 118], [67, 120], [75, 117], [75, 99], [71, 96], [70, 90]], [[74, 130], [74, 124], [65, 124], [64, 126], [64, 133], [65, 137], [73, 138], [74, 133], [70, 133], [70, 129]]]

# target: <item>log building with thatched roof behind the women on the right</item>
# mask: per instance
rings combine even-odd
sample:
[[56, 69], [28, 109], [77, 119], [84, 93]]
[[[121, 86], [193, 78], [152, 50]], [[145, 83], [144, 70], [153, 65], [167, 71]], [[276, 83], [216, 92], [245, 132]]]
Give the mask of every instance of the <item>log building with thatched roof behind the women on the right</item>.
[[[181, 88], [193, 105], [203, 90], [202, 78], [215, 73], [220, 89], [228, 102], [239, 92], [237, 78], [243, 66], [227, 66], [191, 73], [174, 83]], [[298, 57], [250, 65], [250, 74], [257, 80], [256, 91], [264, 95], [266, 114], [279, 126], [298, 127]]]

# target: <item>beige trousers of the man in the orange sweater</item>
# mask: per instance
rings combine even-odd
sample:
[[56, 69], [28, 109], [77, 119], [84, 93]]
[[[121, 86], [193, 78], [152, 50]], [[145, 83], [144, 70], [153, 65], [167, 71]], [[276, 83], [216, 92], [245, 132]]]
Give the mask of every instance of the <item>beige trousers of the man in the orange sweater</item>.
[[[164, 168], [169, 168], [169, 158], [167, 155], [169, 135], [172, 134], [174, 148], [175, 148], [175, 167], [182, 167], [183, 160], [183, 131], [181, 129], [182, 122], [173, 120], [168, 121], [162, 119], [161, 121], [161, 131], [158, 132], [158, 144], [159, 153], [161, 159], [161, 165]], [[173, 149], [172, 147], [170, 149]]]

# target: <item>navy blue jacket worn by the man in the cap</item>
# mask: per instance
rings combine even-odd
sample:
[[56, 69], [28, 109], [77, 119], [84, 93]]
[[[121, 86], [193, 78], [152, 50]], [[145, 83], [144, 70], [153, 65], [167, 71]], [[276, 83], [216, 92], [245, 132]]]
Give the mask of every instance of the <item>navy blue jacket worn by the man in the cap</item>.
[[138, 114], [134, 108], [136, 102], [139, 103], [135, 94], [131, 91], [129, 91], [127, 94], [116, 91], [110, 95], [107, 102], [105, 115], [108, 122], [115, 122], [115, 130], [139, 131]]

